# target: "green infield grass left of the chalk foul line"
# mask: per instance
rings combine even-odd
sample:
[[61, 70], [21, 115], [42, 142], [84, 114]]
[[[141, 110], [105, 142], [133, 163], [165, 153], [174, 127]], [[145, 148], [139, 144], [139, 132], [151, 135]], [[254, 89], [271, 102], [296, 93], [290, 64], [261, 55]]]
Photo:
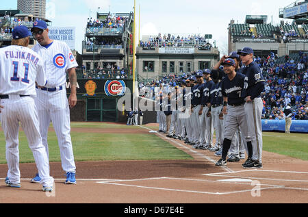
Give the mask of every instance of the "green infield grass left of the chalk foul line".
[[[73, 123], [74, 125], [74, 123]], [[94, 123], [90, 123], [94, 125]], [[86, 126], [86, 125], [84, 125]], [[114, 125], [110, 125], [110, 127]], [[103, 127], [101, 123], [96, 127]], [[136, 126], [126, 126], [135, 128]], [[155, 136], [143, 133], [70, 133], [76, 161], [100, 160], [149, 160], [149, 159], [192, 159], [190, 155]], [[19, 133], [20, 162], [34, 162], [34, 157], [27, 145], [25, 133]], [[55, 132], [49, 131], [49, 159], [60, 162], [60, 151]], [[0, 143], [5, 144], [3, 131]], [[0, 164], [5, 164], [5, 145], [0, 146]]]

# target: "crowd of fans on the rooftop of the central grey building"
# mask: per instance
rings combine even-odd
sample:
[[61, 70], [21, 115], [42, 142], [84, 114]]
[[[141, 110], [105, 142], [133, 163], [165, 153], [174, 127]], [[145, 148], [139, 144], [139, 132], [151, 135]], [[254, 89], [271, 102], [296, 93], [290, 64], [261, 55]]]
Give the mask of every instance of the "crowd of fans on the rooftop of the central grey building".
[[190, 45], [190, 47], [203, 47], [204, 49], [211, 49], [212, 45], [200, 35], [190, 36], [171, 36], [171, 34], [158, 34], [156, 37], [149, 37], [149, 40], [140, 40], [139, 47], [143, 49], [155, 49], [155, 47], [184, 47]]

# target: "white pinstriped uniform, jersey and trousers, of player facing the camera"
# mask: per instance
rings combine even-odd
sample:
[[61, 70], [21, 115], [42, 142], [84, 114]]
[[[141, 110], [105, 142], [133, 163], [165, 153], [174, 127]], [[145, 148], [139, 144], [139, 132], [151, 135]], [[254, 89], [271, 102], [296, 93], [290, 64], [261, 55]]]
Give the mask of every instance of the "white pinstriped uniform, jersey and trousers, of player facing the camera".
[[38, 108], [42, 142], [48, 153], [47, 135], [52, 121], [60, 147], [62, 168], [66, 173], [75, 173], [76, 166], [70, 138], [70, 110], [65, 84], [66, 71], [78, 64], [68, 45], [58, 40], [53, 40], [49, 47], [36, 44], [33, 50], [44, 58], [47, 68], [47, 85], [44, 88], [36, 88], [38, 96], [36, 107]]

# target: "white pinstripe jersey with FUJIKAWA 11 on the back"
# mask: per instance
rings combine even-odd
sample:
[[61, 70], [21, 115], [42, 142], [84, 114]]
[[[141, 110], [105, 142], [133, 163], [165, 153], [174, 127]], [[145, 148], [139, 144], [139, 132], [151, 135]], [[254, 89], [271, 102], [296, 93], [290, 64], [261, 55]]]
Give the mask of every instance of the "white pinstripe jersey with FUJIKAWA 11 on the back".
[[0, 49], [0, 94], [23, 94], [36, 97], [35, 83], [47, 81], [44, 62], [27, 47], [11, 45]]

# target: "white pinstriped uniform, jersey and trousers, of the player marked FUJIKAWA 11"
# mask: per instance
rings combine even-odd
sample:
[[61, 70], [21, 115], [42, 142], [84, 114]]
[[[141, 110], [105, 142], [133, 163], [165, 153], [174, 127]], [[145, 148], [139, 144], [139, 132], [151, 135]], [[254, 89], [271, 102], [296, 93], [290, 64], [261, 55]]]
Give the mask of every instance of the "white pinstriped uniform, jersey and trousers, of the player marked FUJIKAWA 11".
[[45, 187], [52, 187], [53, 177], [49, 175], [49, 160], [42, 145], [34, 103], [36, 81], [42, 86], [47, 81], [40, 55], [21, 46], [0, 49], [0, 98], [3, 105], [1, 122], [6, 142], [8, 179], [13, 184], [20, 183], [18, 130], [21, 122], [42, 178], [40, 183]]

